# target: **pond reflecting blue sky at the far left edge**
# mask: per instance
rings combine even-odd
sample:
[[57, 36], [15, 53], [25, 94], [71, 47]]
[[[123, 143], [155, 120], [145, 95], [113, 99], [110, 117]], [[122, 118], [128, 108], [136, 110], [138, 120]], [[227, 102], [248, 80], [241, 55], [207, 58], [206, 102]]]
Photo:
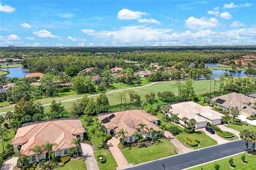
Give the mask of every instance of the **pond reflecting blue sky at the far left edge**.
[[[33, 73], [33, 72], [38, 72], [38, 71], [35, 71], [35, 70], [30, 70], [30, 69], [25, 68], [25, 67], [1, 68], [0, 70], [10, 72], [10, 74], [6, 75], [7, 77], [10, 77], [10, 78], [14, 78], [14, 77], [23, 78], [26, 74], [30, 74], [30, 73]], [[44, 72], [42, 72], [42, 73], [44, 73]]]

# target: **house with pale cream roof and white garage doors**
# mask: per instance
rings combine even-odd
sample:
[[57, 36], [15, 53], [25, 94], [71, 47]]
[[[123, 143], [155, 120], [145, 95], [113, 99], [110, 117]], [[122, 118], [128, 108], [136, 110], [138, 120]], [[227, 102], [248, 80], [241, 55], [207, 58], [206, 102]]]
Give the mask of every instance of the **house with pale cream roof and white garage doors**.
[[204, 128], [207, 122], [214, 125], [220, 125], [222, 121], [223, 114], [214, 111], [210, 106], [201, 106], [195, 102], [182, 102], [177, 104], [172, 104], [172, 109], [170, 109], [168, 116], [171, 117], [172, 114], [177, 115], [179, 122], [185, 125], [182, 121], [183, 117], [188, 119], [195, 119], [196, 128]]

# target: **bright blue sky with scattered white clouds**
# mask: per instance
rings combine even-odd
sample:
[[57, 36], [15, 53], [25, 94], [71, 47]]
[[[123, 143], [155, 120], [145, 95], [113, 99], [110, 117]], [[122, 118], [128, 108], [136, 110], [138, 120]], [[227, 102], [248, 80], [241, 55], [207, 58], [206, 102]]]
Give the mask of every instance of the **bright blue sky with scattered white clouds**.
[[256, 45], [255, 1], [0, 3], [0, 46]]

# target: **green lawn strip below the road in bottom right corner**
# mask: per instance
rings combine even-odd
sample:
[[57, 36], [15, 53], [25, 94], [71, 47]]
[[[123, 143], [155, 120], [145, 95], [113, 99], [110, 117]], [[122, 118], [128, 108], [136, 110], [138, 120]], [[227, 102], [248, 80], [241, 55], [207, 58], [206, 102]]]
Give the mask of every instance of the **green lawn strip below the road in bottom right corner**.
[[[241, 162], [241, 156], [245, 154], [245, 158], [247, 161], [247, 164], [243, 164]], [[214, 170], [214, 165], [220, 164], [220, 169], [221, 170], [230, 170], [231, 168], [229, 168], [229, 163], [228, 160], [230, 158], [233, 158], [234, 161], [234, 166], [236, 170], [255, 170], [256, 169], [256, 164], [255, 164], [255, 160], [256, 160], [256, 155], [247, 155], [246, 153], [243, 154], [238, 154], [235, 156], [231, 156], [229, 158], [225, 158], [222, 160], [217, 160], [214, 162], [211, 162], [209, 164], [205, 164], [202, 166], [197, 166], [195, 168], [191, 168], [189, 170], [201, 170], [201, 168], [203, 167], [204, 170]]]

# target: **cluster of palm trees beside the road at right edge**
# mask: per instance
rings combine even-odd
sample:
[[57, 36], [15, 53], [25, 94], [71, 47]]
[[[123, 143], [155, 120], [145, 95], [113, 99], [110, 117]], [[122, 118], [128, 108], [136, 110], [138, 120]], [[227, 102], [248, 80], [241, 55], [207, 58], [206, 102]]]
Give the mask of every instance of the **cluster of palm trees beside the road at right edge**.
[[255, 153], [255, 143], [256, 143], [256, 131], [249, 131], [248, 129], [243, 129], [240, 131], [240, 138], [245, 141], [246, 152], [248, 153], [248, 142], [252, 143], [252, 154]]

